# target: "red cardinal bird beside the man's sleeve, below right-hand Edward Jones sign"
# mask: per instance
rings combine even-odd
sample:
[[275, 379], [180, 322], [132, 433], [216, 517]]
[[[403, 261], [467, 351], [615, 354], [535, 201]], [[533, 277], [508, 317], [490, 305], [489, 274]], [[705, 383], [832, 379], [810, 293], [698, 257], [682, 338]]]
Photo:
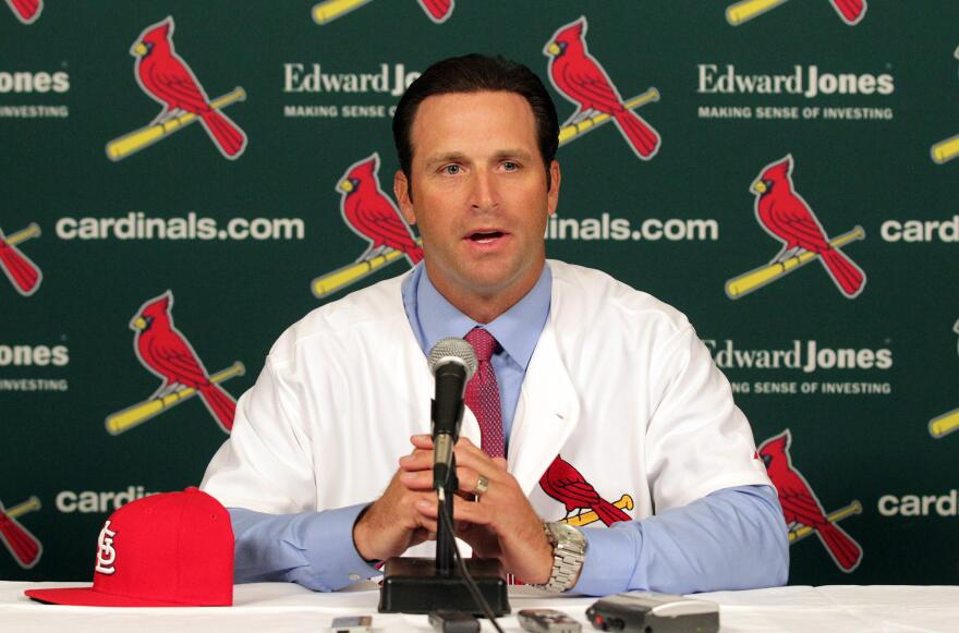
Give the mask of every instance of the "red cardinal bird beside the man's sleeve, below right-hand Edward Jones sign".
[[823, 504], [813, 492], [805, 477], [792, 466], [789, 445], [792, 435], [789, 429], [772, 437], [760, 447], [760, 455], [766, 464], [769, 479], [779, 491], [779, 503], [786, 523], [808, 525], [816, 531], [829, 556], [845, 572], [851, 572], [862, 560], [862, 548], [845, 529], [826, 519]]

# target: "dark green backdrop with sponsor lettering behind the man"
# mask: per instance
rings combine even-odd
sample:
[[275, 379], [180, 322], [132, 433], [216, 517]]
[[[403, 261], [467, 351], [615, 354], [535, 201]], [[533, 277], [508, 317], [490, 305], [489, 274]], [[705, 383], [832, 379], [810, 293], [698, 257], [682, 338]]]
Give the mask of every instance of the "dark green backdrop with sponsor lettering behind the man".
[[[160, 386], [130, 327], [145, 302], [171, 291], [206, 369], [245, 368], [221, 382], [239, 397], [287, 326], [408, 268], [314, 294], [366, 251], [336, 186], [377, 153], [391, 190], [405, 82], [470, 51], [548, 82], [544, 49], [583, 16], [623, 99], [658, 96], [635, 112], [661, 142], [643, 159], [608, 121], [566, 142], [548, 255], [685, 312], [757, 443], [789, 430], [792, 467], [862, 549], [843, 569], [797, 526], [791, 583], [959, 580], [959, 3], [867, 0], [858, 21], [828, 0], [353, 4], [320, 24], [311, 0], [45, 0], [32, 21], [0, 2], [0, 532], [21, 535], [0, 577], [88, 580], [118, 500], [196, 485], [226, 439], [195, 397], [108, 430]], [[195, 121], [108, 156], [160, 112], [130, 51], [167, 16], [210, 99], [242, 88], [222, 108], [247, 138], [232, 159]], [[862, 230], [842, 246], [865, 278], [852, 299], [816, 260], [727, 290], [780, 251], [750, 187], [787, 157], [829, 239]]]

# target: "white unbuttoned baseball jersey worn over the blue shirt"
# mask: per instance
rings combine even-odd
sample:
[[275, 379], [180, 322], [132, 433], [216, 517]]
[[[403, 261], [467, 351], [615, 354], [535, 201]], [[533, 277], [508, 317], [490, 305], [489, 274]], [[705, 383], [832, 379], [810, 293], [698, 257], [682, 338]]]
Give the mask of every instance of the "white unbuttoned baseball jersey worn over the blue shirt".
[[[508, 458], [543, 519], [603, 525], [591, 513], [595, 502], [563, 494], [568, 468], [547, 486], [553, 496], [539, 485], [557, 455], [630, 519], [720, 488], [772, 485], [728, 381], [682, 314], [604, 272], [548, 265], [549, 318], [523, 380]], [[430, 428], [433, 376], [401, 283], [389, 279], [324, 305], [280, 337], [239, 401], [205, 491], [228, 508], [275, 514], [383, 494], [412, 450], [410, 436]], [[461, 435], [480, 445], [469, 409]], [[418, 547], [408, 553], [432, 544]]]

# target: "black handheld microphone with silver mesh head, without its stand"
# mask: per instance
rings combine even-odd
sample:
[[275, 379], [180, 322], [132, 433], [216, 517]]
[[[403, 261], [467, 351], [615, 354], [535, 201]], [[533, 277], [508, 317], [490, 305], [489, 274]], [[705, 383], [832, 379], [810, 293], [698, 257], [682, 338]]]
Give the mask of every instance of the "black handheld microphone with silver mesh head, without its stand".
[[454, 337], [440, 340], [429, 351], [429, 369], [436, 380], [433, 399], [433, 488], [444, 488], [450, 476], [453, 446], [463, 422], [463, 392], [476, 373], [473, 345]]

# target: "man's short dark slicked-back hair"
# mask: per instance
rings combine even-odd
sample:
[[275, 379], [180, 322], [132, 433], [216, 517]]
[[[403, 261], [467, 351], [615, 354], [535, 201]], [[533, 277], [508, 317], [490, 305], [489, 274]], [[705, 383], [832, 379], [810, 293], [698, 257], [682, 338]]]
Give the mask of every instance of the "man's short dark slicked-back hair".
[[452, 93], [515, 93], [526, 99], [536, 120], [536, 144], [546, 166], [546, 183], [549, 186], [549, 163], [556, 158], [559, 146], [559, 119], [556, 106], [546, 86], [536, 73], [521, 63], [502, 57], [478, 53], [453, 57], [436, 62], [410, 84], [393, 114], [393, 142], [400, 159], [400, 169], [412, 180], [413, 144], [410, 132], [420, 104], [427, 97]]

